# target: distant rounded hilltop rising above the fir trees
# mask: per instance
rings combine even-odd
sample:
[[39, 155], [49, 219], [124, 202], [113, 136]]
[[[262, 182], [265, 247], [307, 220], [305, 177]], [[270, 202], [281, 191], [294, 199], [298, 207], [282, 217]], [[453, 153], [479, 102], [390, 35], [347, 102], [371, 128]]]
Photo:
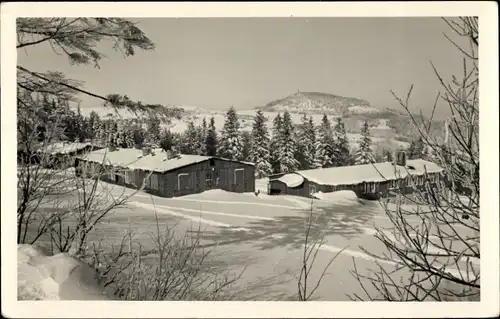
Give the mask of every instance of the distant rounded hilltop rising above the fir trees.
[[288, 110], [293, 113], [313, 112], [328, 113], [341, 116], [362, 113], [378, 113], [378, 109], [363, 99], [344, 97], [320, 92], [297, 92], [285, 98], [274, 100], [265, 106], [258, 107], [267, 112]]

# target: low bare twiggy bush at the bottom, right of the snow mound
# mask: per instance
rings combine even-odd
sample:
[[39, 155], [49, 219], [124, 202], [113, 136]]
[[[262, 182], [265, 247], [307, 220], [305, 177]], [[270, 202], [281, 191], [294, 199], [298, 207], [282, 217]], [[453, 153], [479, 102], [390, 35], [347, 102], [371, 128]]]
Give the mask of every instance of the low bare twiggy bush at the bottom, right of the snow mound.
[[150, 246], [128, 233], [117, 249], [93, 245], [87, 261], [116, 298], [124, 300], [224, 300], [243, 272], [231, 273], [211, 265], [211, 250], [200, 242], [200, 228], [175, 236], [175, 226], [161, 229], [158, 218]]

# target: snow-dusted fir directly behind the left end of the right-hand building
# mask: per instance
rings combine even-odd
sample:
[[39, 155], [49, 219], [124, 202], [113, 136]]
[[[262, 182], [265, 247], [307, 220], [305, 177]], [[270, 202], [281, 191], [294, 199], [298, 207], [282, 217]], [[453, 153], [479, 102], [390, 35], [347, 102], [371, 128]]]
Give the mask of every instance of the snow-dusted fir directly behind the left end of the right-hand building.
[[297, 144], [295, 143], [294, 125], [290, 113], [283, 113], [281, 123], [281, 143], [278, 146], [280, 159], [280, 172], [293, 172], [299, 168], [299, 162], [295, 158]]

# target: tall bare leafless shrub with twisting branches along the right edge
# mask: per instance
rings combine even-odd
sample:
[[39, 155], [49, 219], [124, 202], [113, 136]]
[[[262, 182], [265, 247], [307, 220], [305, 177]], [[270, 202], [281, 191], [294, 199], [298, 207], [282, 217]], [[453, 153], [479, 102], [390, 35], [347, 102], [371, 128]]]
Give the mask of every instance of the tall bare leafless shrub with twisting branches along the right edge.
[[[355, 265], [352, 273], [366, 297], [353, 295], [354, 300], [480, 298], [478, 19], [462, 17], [445, 22], [468, 40], [468, 46], [446, 36], [464, 54], [463, 70], [461, 78], [453, 76], [448, 83], [432, 66], [444, 94], [436, 98], [429, 122], [418, 121], [410, 112], [411, 89], [406, 98], [393, 93], [428, 147], [429, 157], [444, 172], [438, 182], [425, 174], [425, 187], [414, 188], [411, 197], [398, 192], [395, 204], [383, 203], [391, 228], [377, 229], [376, 238], [386, 253], [365, 252], [392, 262], [394, 269], [377, 263], [377, 270], [361, 273]], [[439, 99], [451, 113], [444, 140], [429, 131]]]

